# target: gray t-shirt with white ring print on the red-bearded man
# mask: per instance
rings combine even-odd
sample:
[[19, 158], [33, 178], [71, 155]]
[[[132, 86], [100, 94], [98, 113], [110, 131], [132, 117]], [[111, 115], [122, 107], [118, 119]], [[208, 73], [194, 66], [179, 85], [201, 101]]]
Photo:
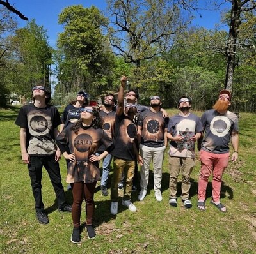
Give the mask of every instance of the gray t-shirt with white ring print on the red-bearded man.
[[239, 130], [236, 114], [227, 111], [221, 115], [211, 109], [204, 112], [201, 122], [204, 128], [202, 149], [209, 153], [228, 153], [231, 133]]

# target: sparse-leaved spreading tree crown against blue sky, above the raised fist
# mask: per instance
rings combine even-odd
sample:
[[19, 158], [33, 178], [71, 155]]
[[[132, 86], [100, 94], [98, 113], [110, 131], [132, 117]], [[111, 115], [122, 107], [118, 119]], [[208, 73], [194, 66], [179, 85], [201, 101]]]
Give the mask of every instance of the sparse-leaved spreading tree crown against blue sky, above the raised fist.
[[[172, 47], [191, 19], [184, 9], [191, 1], [108, 0], [108, 33], [115, 54], [140, 68]], [[136, 70], [138, 71], [138, 69]], [[138, 73], [134, 75], [138, 77]]]

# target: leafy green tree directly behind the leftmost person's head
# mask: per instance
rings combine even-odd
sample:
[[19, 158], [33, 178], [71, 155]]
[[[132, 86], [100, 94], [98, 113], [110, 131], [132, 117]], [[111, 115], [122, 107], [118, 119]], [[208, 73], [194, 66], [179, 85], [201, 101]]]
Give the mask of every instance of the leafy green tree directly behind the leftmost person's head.
[[30, 96], [31, 87], [37, 84], [44, 84], [51, 89], [52, 48], [47, 39], [47, 31], [38, 26], [35, 20], [17, 29], [14, 36], [9, 36], [8, 83], [13, 91]]

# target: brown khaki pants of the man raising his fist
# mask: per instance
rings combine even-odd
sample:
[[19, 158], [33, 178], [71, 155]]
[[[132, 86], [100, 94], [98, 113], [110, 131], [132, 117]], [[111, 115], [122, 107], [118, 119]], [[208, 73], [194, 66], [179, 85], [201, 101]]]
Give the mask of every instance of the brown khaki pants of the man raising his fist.
[[130, 200], [132, 196], [132, 179], [134, 176], [135, 161], [125, 161], [114, 157], [114, 173], [111, 179], [111, 202], [118, 202], [118, 183], [124, 172], [124, 197]]

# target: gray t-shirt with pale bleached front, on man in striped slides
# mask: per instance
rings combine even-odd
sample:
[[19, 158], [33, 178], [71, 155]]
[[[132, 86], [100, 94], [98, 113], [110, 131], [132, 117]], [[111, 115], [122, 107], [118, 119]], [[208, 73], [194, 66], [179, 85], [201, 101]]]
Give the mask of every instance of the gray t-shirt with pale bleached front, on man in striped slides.
[[170, 156], [195, 158], [195, 142], [190, 140], [196, 133], [203, 130], [200, 118], [190, 113], [188, 116], [177, 114], [170, 117], [167, 132], [173, 137], [182, 135], [182, 142], [170, 142]]

